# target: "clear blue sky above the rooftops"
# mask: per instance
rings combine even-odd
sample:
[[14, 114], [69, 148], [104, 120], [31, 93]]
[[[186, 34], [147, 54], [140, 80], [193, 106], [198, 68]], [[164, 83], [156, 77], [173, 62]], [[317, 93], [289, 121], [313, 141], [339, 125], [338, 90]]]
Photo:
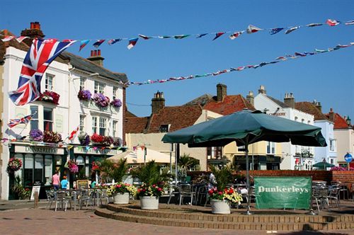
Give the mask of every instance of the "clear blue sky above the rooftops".
[[[354, 20], [354, 1], [7, 1], [0, 9], [0, 29], [19, 35], [30, 22], [39, 21], [47, 38], [101, 39], [134, 38], [143, 35], [181, 35], [279, 28], [307, 23]], [[142, 40], [132, 50], [127, 41], [101, 45], [104, 65], [124, 72], [130, 81], [169, 79], [270, 62], [294, 52], [312, 52], [354, 42], [354, 25], [300, 28], [285, 35], [261, 31], [230, 40], [223, 35], [212, 40]], [[92, 42], [79, 52], [89, 57]], [[324, 113], [333, 108], [354, 122], [354, 47], [312, 57], [294, 59], [258, 69], [220, 76], [174, 81], [165, 84], [130, 86], [127, 105], [132, 113], [147, 116], [156, 91], [163, 91], [166, 105], [182, 105], [204, 93], [216, 94], [218, 83], [228, 94], [246, 97], [264, 85], [269, 96], [282, 101], [294, 93], [295, 101], [319, 101]], [[17, 79], [17, 78], [13, 78]]]

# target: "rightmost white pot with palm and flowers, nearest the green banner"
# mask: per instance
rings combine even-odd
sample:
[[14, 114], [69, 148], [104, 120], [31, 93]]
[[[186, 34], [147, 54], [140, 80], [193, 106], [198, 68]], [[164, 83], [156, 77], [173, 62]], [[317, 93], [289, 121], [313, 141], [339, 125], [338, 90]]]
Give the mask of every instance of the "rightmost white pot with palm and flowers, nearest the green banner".
[[224, 168], [216, 168], [210, 166], [215, 176], [216, 185], [209, 190], [210, 204], [212, 205], [212, 214], [230, 214], [232, 203], [242, 201], [242, 196], [236, 193], [234, 188], [227, 188], [227, 184], [232, 182], [232, 168], [225, 166]]

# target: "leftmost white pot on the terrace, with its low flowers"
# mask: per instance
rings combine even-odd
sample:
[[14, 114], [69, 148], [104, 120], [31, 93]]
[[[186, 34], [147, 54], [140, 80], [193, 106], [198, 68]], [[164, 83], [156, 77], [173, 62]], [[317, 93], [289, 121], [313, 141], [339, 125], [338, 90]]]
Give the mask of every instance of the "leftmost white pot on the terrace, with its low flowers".
[[136, 193], [137, 188], [128, 183], [117, 183], [107, 189], [107, 194], [113, 197], [114, 204], [129, 204], [130, 195], [134, 197]]

